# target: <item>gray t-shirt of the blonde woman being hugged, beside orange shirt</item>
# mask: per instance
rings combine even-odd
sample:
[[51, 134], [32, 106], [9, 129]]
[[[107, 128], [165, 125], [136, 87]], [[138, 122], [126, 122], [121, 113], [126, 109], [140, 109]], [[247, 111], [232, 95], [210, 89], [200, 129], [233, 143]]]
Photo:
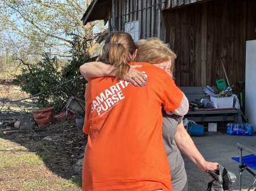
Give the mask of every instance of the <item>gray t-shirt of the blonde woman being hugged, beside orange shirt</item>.
[[164, 111], [162, 113], [163, 143], [171, 170], [172, 190], [180, 191], [187, 182], [187, 173], [185, 172], [184, 160], [180, 150], [174, 141], [174, 136], [177, 131], [177, 125], [183, 120], [183, 116], [168, 115]]

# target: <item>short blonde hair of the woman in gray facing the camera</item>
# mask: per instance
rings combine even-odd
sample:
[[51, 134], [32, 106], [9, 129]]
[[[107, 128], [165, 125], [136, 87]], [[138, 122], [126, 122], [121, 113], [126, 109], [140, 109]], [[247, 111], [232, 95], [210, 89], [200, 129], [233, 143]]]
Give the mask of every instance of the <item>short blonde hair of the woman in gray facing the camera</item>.
[[150, 37], [139, 40], [136, 43], [136, 48], [135, 62], [160, 63], [170, 60], [170, 75], [173, 78], [176, 54], [172, 52], [168, 44], [165, 44], [156, 37]]

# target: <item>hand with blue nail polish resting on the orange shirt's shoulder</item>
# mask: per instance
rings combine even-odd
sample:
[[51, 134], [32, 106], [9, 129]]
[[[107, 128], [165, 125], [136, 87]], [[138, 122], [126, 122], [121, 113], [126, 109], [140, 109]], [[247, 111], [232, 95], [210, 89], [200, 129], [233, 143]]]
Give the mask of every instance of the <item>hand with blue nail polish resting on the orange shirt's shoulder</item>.
[[129, 72], [123, 77], [123, 80], [126, 82], [130, 82], [134, 86], [144, 86], [147, 83], [145, 82], [147, 80], [146, 76], [141, 73], [137, 68], [142, 67], [142, 65], [134, 65], [130, 67]]

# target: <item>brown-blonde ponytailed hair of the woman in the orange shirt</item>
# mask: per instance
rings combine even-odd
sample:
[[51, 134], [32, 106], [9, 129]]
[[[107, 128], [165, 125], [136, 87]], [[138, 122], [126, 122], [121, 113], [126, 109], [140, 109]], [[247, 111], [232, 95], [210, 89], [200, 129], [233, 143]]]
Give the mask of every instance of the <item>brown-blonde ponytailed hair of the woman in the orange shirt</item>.
[[130, 69], [129, 63], [133, 61], [135, 50], [135, 43], [129, 33], [112, 32], [105, 40], [99, 61], [113, 65], [112, 73], [123, 79]]

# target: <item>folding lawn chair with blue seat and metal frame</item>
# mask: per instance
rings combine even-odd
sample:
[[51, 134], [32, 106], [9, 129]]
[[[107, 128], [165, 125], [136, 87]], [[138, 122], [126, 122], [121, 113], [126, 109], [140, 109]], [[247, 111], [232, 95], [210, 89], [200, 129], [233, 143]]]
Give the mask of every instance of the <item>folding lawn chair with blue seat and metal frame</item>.
[[[240, 150], [240, 156], [239, 157], [232, 157], [233, 160], [236, 160], [236, 162], [239, 163], [239, 172], [240, 172], [240, 179], [239, 179], [239, 191], [242, 189], [242, 172], [244, 170], [248, 171], [251, 175], [253, 175], [253, 181], [251, 182], [249, 186], [249, 190], [253, 187], [255, 181], [256, 181], [256, 175], [253, 171], [253, 169], [256, 169], [256, 151], [251, 150], [250, 148], [241, 145], [240, 143], [237, 143], [237, 147]], [[245, 150], [250, 153], [250, 155], [242, 155], [242, 150]], [[254, 189], [254, 191], [256, 188]]]

